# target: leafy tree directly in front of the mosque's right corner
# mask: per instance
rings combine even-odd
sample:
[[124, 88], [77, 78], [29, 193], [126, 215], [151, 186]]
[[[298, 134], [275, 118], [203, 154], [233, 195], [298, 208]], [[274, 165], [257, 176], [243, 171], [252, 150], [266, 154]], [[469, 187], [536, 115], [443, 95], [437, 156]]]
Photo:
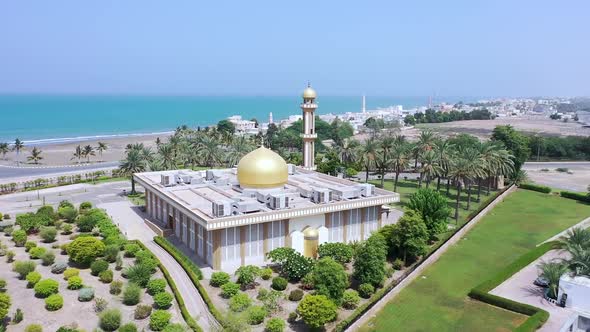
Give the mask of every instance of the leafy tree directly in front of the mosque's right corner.
[[429, 234], [428, 228], [414, 210], [406, 210], [391, 231], [391, 243], [395, 252], [403, 257], [415, 259], [426, 253]]

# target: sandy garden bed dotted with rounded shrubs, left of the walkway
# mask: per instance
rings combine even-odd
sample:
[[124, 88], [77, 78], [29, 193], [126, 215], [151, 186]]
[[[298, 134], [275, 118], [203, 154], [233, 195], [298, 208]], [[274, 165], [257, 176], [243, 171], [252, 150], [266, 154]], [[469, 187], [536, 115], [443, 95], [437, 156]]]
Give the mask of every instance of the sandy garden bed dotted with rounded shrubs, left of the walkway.
[[44, 206], [18, 216], [16, 224], [0, 233], [8, 331], [32, 324], [49, 332], [186, 329], [158, 261], [125, 240], [102, 210], [62, 202], [57, 211]]

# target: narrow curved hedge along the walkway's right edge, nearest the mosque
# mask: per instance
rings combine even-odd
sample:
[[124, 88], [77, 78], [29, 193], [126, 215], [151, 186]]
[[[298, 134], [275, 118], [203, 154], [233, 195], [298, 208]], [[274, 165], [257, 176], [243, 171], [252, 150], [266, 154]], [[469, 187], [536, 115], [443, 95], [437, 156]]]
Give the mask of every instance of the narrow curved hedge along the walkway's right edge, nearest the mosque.
[[200, 280], [203, 278], [203, 274], [201, 273], [199, 267], [190, 258], [186, 257], [186, 255], [182, 251], [178, 250], [178, 248], [176, 248], [172, 243], [166, 240], [166, 238], [161, 236], [155, 236], [154, 242], [156, 242], [160, 247], [162, 247], [162, 249], [166, 250], [178, 262], [178, 264], [182, 266], [186, 274], [189, 276], [189, 278], [199, 291], [199, 294], [201, 294], [203, 301], [205, 301], [205, 303], [207, 304], [209, 312], [211, 312], [213, 317], [215, 317], [215, 319], [222, 326], [224, 326], [225, 322], [223, 319], [223, 315], [219, 310], [217, 310], [215, 304], [213, 304], [213, 302], [211, 301], [209, 294], [207, 294], [207, 291], [201, 285]]

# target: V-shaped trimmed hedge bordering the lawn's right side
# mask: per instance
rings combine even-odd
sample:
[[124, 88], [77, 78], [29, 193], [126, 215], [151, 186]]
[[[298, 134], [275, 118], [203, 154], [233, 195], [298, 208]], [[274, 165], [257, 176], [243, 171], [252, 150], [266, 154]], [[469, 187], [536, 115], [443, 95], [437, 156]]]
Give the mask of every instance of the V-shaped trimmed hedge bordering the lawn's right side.
[[518, 326], [515, 331], [521, 332], [533, 332], [543, 326], [543, 324], [549, 319], [549, 313], [543, 309], [539, 309], [532, 305], [512, 301], [500, 296], [492, 295], [489, 292], [510, 278], [512, 275], [522, 270], [533, 261], [543, 256], [546, 252], [552, 249], [559, 248], [559, 243], [546, 242], [526, 254], [520, 256], [517, 260], [512, 262], [510, 265], [500, 270], [491, 279], [482, 282], [477, 285], [469, 292], [469, 297], [476, 299], [493, 306], [497, 306], [506, 310], [514, 311], [523, 315], [530, 316], [527, 320]]

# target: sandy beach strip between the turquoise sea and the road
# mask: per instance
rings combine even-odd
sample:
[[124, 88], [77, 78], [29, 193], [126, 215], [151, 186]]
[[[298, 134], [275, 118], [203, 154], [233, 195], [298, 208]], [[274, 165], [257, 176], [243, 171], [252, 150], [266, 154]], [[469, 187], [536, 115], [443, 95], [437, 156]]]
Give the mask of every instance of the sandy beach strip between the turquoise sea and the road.
[[[125, 147], [127, 146], [127, 144], [143, 143], [146, 146], [155, 147], [156, 138], [159, 137], [162, 141], [166, 141], [168, 136], [170, 136], [170, 134], [168, 133], [159, 133], [121, 137], [106, 137], [67, 143], [43, 143], [39, 145], [30, 144], [27, 145], [25, 147], [25, 150], [20, 153], [19, 159], [21, 163], [27, 163], [27, 166], [75, 165], [77, 164], [78, 160], [72, 158], [74, 157], [74, 151], [76, 150], [76, 147], [78, 145], [82, 147], [85, 145], [91, 145], [96, 149], [96, 147], [98, 146], [98, 142], [104, 142], [107, 143], [107, 150], [103, 151], [102, 156], [98, 153], [98, 151], [95, 151], [96, 156], [90, 157], [90, 162], [97, 164], [102, 162], [113, 162], [119, 161], [123, 158], [125, 154]], [[37, 147], [38, 149], [43, 151], [41, 154], [43, 160], [41, 160], [39, 165], [29, 164], [27, 162], [27, 157], [30, 155], [33, 147]], [[86, 159], [82, 159], [81, 162], [86, 163]], [[6, 159], [0, 160], [1, 165], [15, 165], [15, 163], [16, 153], [12, 151], [6, 154]]]

